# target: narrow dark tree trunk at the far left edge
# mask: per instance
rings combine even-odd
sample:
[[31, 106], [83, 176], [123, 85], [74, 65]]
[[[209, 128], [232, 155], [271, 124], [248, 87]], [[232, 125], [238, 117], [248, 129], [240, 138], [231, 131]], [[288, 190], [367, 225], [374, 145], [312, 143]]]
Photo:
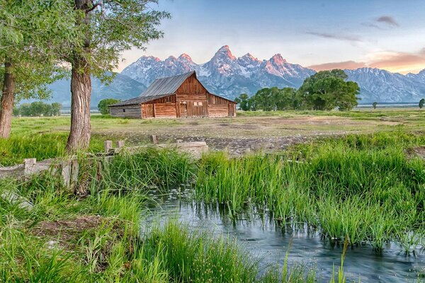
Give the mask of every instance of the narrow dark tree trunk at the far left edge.
[[4, 62], [3, 92], [0, 110], [0, 137], [8, 139], [11, 135], [13, 103], [15, 102], [15, 76], [10, 60]]

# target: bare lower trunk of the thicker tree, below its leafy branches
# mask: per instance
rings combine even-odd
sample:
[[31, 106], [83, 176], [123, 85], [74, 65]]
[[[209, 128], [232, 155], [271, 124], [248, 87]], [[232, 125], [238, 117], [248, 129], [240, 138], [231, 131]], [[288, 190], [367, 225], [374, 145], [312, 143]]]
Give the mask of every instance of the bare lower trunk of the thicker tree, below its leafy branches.
[[84, 57], [77, 57], [71, 75], [71, 130], [67, 151], [89, 148], [91, 78], [89, 64]]

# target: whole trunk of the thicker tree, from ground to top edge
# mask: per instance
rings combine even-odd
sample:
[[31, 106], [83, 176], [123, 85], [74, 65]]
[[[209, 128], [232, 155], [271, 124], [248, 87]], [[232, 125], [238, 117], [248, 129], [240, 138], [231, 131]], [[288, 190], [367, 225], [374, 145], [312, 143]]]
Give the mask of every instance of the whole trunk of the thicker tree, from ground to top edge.
[[[85, 28], [90, 25], [90, 0], [74, 0], [77, 10], [84, 12], [77, 26]], [[90, 30], [87, 30], [82, 52], [76, 51], [72, 59], [71, 75], [71, 130], [69, 132], [67, 151], [74, 152], [89, 148], [90, 143], [90, 96], [91, 70], [88, 57], [90, 54]]]

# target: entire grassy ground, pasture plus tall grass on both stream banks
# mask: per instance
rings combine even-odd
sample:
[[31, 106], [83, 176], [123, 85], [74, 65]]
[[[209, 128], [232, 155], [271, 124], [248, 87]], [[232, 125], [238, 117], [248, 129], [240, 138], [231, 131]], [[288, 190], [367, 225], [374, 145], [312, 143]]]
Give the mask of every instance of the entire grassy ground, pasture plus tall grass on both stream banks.
[[[101, 151], [105, 139], [132, 145], [157, 134], [164, 142], [204, 140], [215, 152], [195, 161], [147, 148], [112, 163], [86, 164], [80, 183], [90, 194], [83, 198], [50, 174], [2, 180], [0, 193], [18, 192], [34, 208], [27, 212], [0, 199], [0, 257], [7, 258], [0, 281], [324, 281], [319, 270], [290, 262], [288, 255], [278, 268], [264, 270], [226, 235], [173, 219], [148, 225], [142, 215], [157, 207], [152, 190], [166, 195], [182, 185], [191, 187], [189, 201], [219, 207], [222, 219], [267, 214], [281, 229], [306, 229], [344, 246], [342, 260], [328, 266], [328, 282], [346, 281], [344, 254], [356, 248], [379, 258], [392, 243], [407, 257], [421, 257], [424, 126], [424, 112], [396, 108], [196, 120], [94, 115], [91, 151]], [[14, 119], [11, 141], [0, 143], [1, 163], [64, 154], [68, 127], [69, 117]], [[91, 183], [81, 181], [87, 176]], [[420, 282], [424, 273], [419, 266], [411, 275]]]

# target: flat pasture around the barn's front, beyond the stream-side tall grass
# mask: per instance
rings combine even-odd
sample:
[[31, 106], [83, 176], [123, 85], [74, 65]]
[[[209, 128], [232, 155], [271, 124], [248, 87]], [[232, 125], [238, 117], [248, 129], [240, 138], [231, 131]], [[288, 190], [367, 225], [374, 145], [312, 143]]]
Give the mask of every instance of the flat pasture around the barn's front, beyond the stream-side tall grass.
[[[396, 128], [420, 131], [425, 126], [425, 115], [414, 108], [385, 108], [350, 112], [238, 112], [235, 118], [181, 120], [93, 115], [91, 123], [92, 151], [101, 151], [106, 139], [125, 139], [128, 145], [137, 145], [149, 143], [150, 135], [156, 134], [159, 141], [206, 141], [213, 149], [227, 149], [232, 155], [241, 155], [260, 149], [285, 149], [318, 137], [371, 134]], [[68, 131], [69, 117], [15, 118], [11, 141], [0, 142], [0, 164], [8, 166], [22, 158], [40, 160], [63, 154]]]

